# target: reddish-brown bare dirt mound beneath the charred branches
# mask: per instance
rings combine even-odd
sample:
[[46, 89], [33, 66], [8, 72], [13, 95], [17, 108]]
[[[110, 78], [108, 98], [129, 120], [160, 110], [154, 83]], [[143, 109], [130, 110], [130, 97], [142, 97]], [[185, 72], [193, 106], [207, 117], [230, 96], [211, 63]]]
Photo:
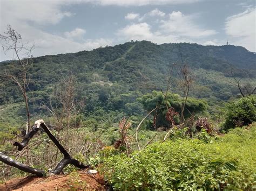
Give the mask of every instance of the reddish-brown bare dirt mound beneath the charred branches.
[[0, 185], [0, 190], [106, 190], [102, 175], [77, 171], [66, 175], [52, 175], [45, 178], [28, 176], [12, 179]]

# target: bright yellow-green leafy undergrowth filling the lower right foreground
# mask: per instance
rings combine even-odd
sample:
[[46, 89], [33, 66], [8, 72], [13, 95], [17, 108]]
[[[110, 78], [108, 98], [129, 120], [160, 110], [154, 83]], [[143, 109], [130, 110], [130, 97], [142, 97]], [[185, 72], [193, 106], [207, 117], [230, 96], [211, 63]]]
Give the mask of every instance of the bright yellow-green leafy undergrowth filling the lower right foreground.
[[177, 139], [106, 158], [100, 167], [114, 189], [253, 189], [256, 125], [205, 143]]

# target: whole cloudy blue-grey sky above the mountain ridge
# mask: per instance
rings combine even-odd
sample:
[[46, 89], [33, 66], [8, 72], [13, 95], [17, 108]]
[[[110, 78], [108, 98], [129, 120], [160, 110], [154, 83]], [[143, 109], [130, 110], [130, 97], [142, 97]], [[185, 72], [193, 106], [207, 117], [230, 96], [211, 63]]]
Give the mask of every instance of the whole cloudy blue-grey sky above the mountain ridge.
[[[131, 40], [243, 46], [256, 52], [254, 0], [0, 0], [6, 26], [35, 45], [33, 56]], [[0, 61], [14, 59], [1, 49]]]

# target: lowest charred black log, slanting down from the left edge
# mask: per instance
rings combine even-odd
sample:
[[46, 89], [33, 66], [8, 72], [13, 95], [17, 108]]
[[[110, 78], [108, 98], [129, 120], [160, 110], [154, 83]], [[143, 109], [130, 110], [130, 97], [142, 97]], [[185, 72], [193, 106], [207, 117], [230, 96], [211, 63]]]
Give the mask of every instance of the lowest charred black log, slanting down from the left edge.
[[24, 165], [21, 162], [17, 162], [16, 160], [6, 156], [2, 152], [0, 152], [0, 161], [4, 162], [7, 165], [14, 166], [20, 169], [21, 171], [28, 172], [31, 174], [36, 174], [38, 176], [44, 176], [46, 174], [45, 171], [42, 171], [41, 169], [38, 169], [38, 168], [32, 168], [28, 165]]

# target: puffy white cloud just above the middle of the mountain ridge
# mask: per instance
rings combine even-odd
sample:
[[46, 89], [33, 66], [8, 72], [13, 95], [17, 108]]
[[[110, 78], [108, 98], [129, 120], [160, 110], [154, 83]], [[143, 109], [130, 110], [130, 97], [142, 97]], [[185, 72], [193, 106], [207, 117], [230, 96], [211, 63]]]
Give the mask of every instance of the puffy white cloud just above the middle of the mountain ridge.
[[[146, 15], [148, 16], [149, 13]], [[164, 16], [159, 10], [155, 10], [153, 13]], [[149, 40], [158, 44], [179, 43], [180, 41], [213, 44], [213, 40], [205, 42], [205, 38], [217, 32], [199, 27], [194, 18], [196, 17], [186, 16], [180, 11], [173, 11], [169, 14], [169, 18], [162, 19], [158, 26], [152, 27], [146, 22], [130, 24], [118, 30], [117, 36], [123, 40]]]

